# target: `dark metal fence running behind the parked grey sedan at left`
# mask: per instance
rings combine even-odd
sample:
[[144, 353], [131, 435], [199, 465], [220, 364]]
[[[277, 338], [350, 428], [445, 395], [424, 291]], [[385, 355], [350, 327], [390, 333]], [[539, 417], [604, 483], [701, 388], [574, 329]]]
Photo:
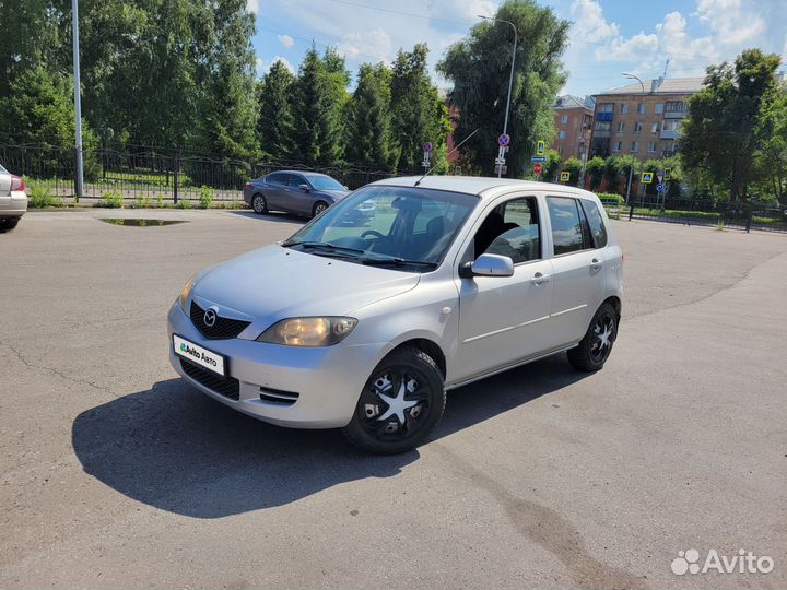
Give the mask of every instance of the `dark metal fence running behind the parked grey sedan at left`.
[[[281, 169], [328, 174], [356, 189], [368, 182], [415, 174], [416, 170], [380, 170], [342, 164], [307, 166], [289, 161], [233, 160], [198, 152], [127, 146], [85, 150], [82, 199], [86, 204], [108, 197], [124, 202], [175, 204], [198, 201], [210, 194], [213, 201], [242, 201], [244, 185], [251, 178]], [[42, 144], [0, 144], [0, 164], [24, 175], [31, 190], [46, 191], [63, 202], [75, 198], [74, 151]]]

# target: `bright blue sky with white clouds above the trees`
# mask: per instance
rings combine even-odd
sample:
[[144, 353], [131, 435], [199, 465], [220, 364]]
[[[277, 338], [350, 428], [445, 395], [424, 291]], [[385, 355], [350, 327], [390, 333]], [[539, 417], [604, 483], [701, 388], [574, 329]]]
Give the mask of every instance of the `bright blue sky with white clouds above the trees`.
[[[702, 76], [745, 48], [782, 56], [787, 71], [787, 0], [541, 0], [572, 22], [561, 94], [592, 95], [643, 80]], [[247, 0], [257, 15], [257, 70], [277, 60], [293, 71], [314, 42], [334, 47], [353, 74], [365, 61], [390, 63], [396, 51], [425, 42], [438, 87], [450, 83], [435, 63], [496, 0]], [[506, 25], [500, 25], [506, 26]], [[669, 60], [669, 64], [667, 64]]]

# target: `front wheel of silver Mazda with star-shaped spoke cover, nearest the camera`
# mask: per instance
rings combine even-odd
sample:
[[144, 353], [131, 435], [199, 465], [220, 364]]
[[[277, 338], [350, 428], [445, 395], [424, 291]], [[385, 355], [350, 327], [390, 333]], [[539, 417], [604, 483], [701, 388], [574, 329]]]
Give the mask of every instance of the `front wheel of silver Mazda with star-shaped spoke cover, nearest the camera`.
[[342, 432], [359, 449], [397, 455], [414, 449], [443, 417], [443, 374], [423, 351], [403, 347], [372, 371]]

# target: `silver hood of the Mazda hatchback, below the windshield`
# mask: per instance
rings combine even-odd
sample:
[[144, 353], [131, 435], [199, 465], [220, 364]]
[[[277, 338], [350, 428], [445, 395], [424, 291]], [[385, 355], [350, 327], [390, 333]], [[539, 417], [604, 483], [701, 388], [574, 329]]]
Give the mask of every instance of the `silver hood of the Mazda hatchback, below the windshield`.
[[252, 321], [297, 316], [343, 316], [410, 291], [419, 273], [365, 267], [336, 258], [266, 246], [218, 264], [192, 291], [200, 305], [218, 305]]

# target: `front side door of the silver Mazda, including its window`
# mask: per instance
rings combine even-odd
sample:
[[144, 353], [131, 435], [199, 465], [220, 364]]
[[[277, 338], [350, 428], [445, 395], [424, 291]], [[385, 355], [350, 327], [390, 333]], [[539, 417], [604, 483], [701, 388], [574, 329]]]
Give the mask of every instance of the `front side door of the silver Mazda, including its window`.
[[493, 204], [478, 226], [466, 259], [508, 256], [513, 276], [457, 278], [457, 380], [489, 373], [549, 349], [552, 261], [543, 252], [542, 205], [536, 197]]

